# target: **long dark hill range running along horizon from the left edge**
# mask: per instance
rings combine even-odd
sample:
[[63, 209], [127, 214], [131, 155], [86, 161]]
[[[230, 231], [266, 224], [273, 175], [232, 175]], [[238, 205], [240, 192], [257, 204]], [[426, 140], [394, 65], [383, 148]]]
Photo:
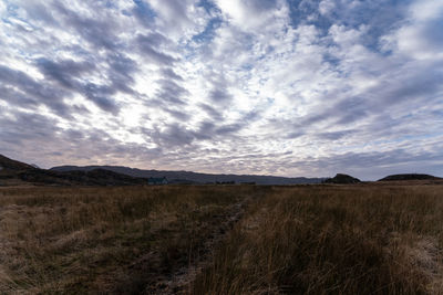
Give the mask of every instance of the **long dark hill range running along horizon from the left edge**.
[[0, 185], [40, 183], [61, 186], [145, 185], [148, 178], [163, 178], [168, 183], [256, 183], [300, 185], [320, 183], [323, 178], [289, 178], [255, 175], [210, 175], [193, 171], [142, 170], [123, 166], [60, 166], [49, 170], [12, 160], [0, 155]]

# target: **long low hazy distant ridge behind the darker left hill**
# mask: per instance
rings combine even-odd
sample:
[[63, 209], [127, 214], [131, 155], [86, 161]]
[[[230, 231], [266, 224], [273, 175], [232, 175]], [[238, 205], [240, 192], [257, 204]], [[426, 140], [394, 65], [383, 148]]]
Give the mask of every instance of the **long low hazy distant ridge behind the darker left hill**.
[[254, 175], [210, 175], [197, 173], [192, 171], [162, 171], [162, 170], [142, 170], [123, 166], [60, 166], [53, 167], [52, 171], [91, 171], [94, 169], [105, 169], [122, 175], [143, 178], [161, 178], [166, 177], [172, 183], [216, 183], [231, 182], [257, 185], [300, 185], [300, 183], [320, 183], [324, 178], [288, 178], [276, 176], [254, 176]]

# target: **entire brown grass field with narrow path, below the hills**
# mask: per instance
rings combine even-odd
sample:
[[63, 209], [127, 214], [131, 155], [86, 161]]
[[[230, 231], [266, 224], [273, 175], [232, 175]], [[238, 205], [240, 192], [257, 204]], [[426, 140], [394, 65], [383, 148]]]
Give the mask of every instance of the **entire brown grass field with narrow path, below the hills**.
[[443, 294], [443, 186], [0, 188], [0, 294]]

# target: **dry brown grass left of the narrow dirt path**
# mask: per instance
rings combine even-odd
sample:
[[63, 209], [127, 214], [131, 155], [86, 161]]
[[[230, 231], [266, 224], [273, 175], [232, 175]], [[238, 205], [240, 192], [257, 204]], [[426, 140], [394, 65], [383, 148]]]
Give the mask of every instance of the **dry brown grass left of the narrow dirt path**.
[[254, 190], [3, 188], [0, 294], [164, 288]]

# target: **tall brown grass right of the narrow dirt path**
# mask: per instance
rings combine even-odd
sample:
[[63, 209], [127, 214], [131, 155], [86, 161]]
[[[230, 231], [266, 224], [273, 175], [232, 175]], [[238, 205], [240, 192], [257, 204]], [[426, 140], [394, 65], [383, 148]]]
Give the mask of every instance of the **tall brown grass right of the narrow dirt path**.
[[443, 294], [443, 187], [275, 188], [195, 294]]

